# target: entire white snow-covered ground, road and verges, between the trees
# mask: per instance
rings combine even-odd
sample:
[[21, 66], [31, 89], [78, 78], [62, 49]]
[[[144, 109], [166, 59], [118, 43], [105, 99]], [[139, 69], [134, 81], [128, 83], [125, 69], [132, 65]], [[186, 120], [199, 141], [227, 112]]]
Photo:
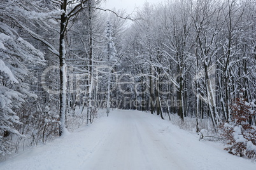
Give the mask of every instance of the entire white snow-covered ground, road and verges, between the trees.
[[89, 127], [22, 152], [0, 169], [256, 169], [217, 143], [155, 115], [115, 110]]

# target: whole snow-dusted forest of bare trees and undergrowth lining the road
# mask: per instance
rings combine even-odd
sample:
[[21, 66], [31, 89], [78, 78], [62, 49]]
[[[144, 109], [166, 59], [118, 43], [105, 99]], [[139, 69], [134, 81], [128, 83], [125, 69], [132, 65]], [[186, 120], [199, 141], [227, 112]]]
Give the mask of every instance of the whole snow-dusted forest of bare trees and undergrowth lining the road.
[[256, 153], [256, 1], [1, 0], [0, 155], [136, 109], [210, 121], [234, 155]]

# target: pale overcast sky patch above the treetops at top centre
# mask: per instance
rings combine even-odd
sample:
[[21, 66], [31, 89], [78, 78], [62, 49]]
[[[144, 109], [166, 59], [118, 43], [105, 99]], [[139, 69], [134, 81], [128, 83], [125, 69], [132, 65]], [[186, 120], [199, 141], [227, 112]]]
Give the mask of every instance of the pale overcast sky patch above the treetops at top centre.
[[[102, 6], [108, 9], [124, 9], [127, 13], [132, 13], [134, 8], [142, 7], [146, 0], [106, 0], [106, 3], [103, 3]], [[148, 3], [158, 3], [162, 0], [147, 0]]]

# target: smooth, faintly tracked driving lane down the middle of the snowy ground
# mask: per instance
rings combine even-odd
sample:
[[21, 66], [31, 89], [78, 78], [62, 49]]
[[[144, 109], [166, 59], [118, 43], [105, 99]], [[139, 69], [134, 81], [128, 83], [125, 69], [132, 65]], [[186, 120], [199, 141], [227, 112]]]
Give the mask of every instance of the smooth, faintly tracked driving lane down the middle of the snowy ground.
[[[89, 169], [188, 169], [174, 154], [170, 141], [145, 114], [115, 114], [115, 129], [87, 160]], [[191, 166], [190, 166], [191, 167]]]

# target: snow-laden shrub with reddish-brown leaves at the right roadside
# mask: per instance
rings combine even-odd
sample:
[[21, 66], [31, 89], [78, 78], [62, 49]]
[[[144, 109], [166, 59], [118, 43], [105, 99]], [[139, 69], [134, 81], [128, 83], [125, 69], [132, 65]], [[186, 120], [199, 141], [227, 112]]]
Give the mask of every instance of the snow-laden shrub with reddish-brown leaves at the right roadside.
[[244, 98], [236, 98], [231, 105], [231, 121], [222, 124], [222, 136], [230, 154], [239, 157], [255, 159], [256, 155], [256, 128], [250, 123], [255, 110], [254, 104], [246, 102]]

